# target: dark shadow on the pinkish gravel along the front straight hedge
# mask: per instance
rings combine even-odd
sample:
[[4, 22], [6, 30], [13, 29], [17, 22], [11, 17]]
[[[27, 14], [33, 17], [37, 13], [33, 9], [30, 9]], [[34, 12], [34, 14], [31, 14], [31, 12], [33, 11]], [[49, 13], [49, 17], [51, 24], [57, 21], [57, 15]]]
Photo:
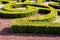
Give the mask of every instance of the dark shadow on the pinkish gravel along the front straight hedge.
[[37, 36], [37, 37], [60, 37], [59, 34], [32, 34], [32, 33], [12, 33], [11, 28], [4, 28], [0, 35], [3, 36]]

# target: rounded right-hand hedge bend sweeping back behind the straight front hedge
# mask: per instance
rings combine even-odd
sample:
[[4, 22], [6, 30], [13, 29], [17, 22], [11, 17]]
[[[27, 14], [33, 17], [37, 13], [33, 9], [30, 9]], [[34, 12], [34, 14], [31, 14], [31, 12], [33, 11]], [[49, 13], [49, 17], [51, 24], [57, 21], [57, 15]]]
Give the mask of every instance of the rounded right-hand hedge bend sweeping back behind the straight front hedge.
[[52, 8], [52, 7], [50, 7], [49, 8], [50, 10], [47, 10], [47, 9], [40, 9], [40, 11], [41, 10], [43, 10], [42, 12], [47, 12], [47, 11], [49, 11], [49, 13], [48, 14], [46, 14], [46, 15], [42, 15], [42, 16], [38, 16], [38, 17], [32, 17], [32, 18], [27, 18], [27, 20], [32, 20], [32, 21], [42, 21], [42, 22], [52, 22], [53, 20], [55, 20], [56, 18], [57, 18], [57, 15], [58, 15], [58, 13], [57, 13], [57, 11], [54, 9], [54, 8]]

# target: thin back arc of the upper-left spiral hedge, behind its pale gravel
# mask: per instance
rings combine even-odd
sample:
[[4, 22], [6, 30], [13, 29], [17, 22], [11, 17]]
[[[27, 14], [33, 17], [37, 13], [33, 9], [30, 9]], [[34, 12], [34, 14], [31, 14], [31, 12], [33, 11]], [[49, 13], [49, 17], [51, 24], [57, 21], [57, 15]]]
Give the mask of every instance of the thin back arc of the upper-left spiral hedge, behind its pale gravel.
[[[18, 3], [8, 3], [8, 4], [5, 4], [4, 5], [4, 7], [3, 7], [3, 9], [5, 9], [5, 10], [8, 10], [8, 11], [20, 11], [20, 10], [18, 10], [18, 9], [14, 9], [14, 8], [19, 8], [19, 7], [26, 7], [26, 6], [35, 6], [35, 7], [42, 7], [42, 8], [49, 8], [48, 6], [44, 6], [44, 5], [42, 5], [42, 4], [30, 4], [30, 3], [28, 3], [28, 4], [26, 4], [26, 3], [20, 3], [20, 2], [18, 2]], [[47, 9], [46, 9], [47, 10]], [[49, 10], [49, 9], [48, 9]]]

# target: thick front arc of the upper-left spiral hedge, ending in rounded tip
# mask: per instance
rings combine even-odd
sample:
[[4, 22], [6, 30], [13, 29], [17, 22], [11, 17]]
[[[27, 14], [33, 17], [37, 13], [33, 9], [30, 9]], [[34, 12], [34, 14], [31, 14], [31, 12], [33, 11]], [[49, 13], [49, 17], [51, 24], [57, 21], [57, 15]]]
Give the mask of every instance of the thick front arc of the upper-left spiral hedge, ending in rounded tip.
[[27, 10], [20, 10], [20, 12], [0, 10], [0, 16], [5, 18], [22, 18], [34, 15], [36, 13], [38, 13], [38, 9], [35, 7], [31, 7], [31, 9], [28, 7]]

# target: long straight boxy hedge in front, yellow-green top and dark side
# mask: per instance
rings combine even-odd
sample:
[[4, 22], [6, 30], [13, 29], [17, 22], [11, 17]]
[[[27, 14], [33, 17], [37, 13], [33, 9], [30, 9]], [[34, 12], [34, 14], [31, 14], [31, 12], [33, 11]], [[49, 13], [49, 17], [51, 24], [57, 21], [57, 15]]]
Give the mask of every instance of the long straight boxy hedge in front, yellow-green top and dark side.
[[60, 23], [32, 22], [16, 19], [11, 25], [12, 32], [60, 34]]

